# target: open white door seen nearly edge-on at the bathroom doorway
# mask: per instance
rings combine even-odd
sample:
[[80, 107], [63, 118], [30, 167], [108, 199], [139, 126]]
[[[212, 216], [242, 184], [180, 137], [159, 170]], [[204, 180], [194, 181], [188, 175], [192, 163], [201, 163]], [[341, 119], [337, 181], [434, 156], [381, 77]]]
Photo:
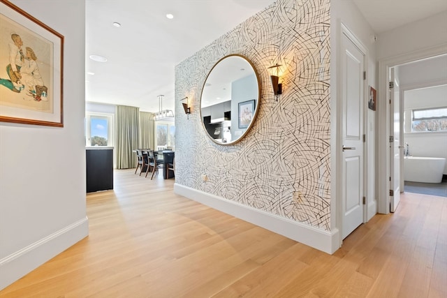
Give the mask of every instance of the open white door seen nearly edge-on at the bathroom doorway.
[[399, 84], [395, 79], [394, 68], [390, 68], [388, 84], [390, 94], [390, 212], [397, 209], [400, 201], [400, 157], [403, 144], [400, 137], [400, 99]]

